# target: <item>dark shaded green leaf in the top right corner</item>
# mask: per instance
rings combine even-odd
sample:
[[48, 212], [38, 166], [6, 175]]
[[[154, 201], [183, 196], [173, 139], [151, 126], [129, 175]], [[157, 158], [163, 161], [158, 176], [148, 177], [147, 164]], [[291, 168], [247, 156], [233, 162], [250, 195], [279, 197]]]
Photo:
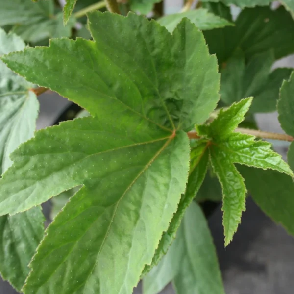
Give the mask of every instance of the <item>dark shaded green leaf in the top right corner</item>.
[[[245, 58], [269, 51], [279, 59], [294, 52], [294, 22], [284, 7], [245, 8], [238, 16], [235, 27], [204, 31], [210, 53], [217, 54], [219, 64], [225, 63], [237, 48]], [[274, 42], [272, 41], [274, 40]]]

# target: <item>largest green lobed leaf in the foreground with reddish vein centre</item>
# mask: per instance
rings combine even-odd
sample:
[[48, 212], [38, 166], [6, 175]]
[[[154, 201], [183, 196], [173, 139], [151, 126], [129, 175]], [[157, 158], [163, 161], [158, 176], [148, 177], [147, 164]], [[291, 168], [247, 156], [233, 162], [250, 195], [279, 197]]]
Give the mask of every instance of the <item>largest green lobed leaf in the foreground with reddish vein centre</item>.
[[181, 129], [219, 99], [216, 58], [187, 19], [173, 35], [135, 14], [92, 13], [89, 26], [95, 42], [52, 40], [3, 58], [94, 116], [39, 131], [0, 181], [1, 213], [82, 185], [49, 226], [25, 294], [131, 293], [185, 189]]

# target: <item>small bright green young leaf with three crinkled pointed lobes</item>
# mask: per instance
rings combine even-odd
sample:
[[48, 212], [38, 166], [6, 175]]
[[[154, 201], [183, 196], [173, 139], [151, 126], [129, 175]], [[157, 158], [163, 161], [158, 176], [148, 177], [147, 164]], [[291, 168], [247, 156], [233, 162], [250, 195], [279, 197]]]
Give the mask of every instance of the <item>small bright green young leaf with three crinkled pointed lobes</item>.
[[246, 98], [234, 103], [227, 110], [221, 110], [212, 123], [197, 128], [199, 135], [206, 135], [210, 140], [210, 162], [222, 187], [225, 245], [232, 240], [245, 211], [245, 183], [234, 163], [273, 169], [293, 176], [289, 166], [271, 150], [269, 143], [233, 132], [244, 119], [251, 101], [252, 98]]

